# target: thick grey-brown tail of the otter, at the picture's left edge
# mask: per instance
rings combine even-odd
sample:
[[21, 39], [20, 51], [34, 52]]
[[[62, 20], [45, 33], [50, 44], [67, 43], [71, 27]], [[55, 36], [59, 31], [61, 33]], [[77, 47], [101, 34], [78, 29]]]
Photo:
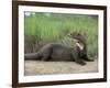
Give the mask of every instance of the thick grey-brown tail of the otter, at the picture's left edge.
[[24, 54], [24, 59], [25, 61], [37, 61], [41, 58], [40, 53], [29, 53], [29, 54]]

